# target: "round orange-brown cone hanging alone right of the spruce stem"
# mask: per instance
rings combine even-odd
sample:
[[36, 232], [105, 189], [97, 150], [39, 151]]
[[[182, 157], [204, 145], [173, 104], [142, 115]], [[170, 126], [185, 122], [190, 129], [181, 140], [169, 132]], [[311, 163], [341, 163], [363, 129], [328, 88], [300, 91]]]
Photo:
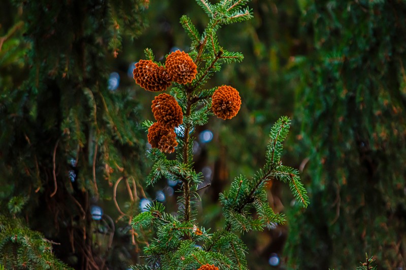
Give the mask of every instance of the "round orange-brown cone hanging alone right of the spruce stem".
[[220, 86], [212, 96], [212, 109], [218, 118], [223, 120], [233, 118], [241, 106], [238, 91], [231, 86]]

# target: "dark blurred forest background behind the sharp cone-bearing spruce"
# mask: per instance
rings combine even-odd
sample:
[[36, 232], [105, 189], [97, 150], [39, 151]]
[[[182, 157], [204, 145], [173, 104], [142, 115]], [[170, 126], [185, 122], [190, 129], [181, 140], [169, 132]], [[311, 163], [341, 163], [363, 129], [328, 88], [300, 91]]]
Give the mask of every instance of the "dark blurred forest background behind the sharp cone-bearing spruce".
[[[365, 252], [380, 269], [403, 269], [406, 2], [249, 6], [252, 20], [218, 33], [224, 48], [245, 59], [225, 65], [208, 85], [235, 87], [243, 103], [227, 125], [216, 119], [196, 132], [195, 169], [212, 184], [201, 195], [200, 222], [221, 225], [219, 192], [263, 165], [270, 127], [288, 115], [282, 160], [300, 170], [311, 204], [300, 209], [286, 187], [269, 183], [269, 203], [288, 222], [242, 236], [250, 269], [350, 269]], [[62, 261], [76, 269], [127, 269], [149, 234], [133, 232], [131, 217], [152, 200], [177, 209], [179, 183], [153, 189], [143, 181], [151, 164], [141, 123], [152, 119], [154, 93], [134, 83], [132, 69], [145, 48], [156, 61], [188, 51], [183, 14], [199, 29], [207, 22], [193, 1], [2, 1], [6, 269], [25, 261], [32, 268], [47, 261], [64, 267]]]

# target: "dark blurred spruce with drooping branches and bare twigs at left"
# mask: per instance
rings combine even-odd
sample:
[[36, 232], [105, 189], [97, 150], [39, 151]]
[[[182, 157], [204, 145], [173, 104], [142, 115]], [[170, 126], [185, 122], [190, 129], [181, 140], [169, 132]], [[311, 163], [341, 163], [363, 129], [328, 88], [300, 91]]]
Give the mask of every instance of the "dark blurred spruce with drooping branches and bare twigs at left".
[[[128, 260], [136, 251], [133, 230], [114, 248], [118, 226], [97, 205], [113, 206], [120, 182], [131, 196], [142, 189], [139, 104], [133, 92], [109, 89], [106, 59], [120, 55], [123, 36], [140, 34], [147, 7], [144, 0], [2, 2], [0, 262], [6, 269], [66, 268], [53, 254], [78, 269], [123, 268], [117, 257]], [[138, 197], [131, 198], [120, 210], [127, 224], [138, 213]]]

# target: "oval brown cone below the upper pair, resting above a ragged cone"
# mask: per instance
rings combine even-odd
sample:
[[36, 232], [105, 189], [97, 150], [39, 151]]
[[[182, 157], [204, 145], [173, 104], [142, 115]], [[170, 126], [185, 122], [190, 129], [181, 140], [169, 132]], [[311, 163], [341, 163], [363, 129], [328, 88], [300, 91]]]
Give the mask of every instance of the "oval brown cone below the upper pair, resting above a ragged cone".
[[159, 94], [152, 100], [151, 108], [156, 121], [164, 127], [175, 128], [183, 123], [182, 108], [171, 95]]

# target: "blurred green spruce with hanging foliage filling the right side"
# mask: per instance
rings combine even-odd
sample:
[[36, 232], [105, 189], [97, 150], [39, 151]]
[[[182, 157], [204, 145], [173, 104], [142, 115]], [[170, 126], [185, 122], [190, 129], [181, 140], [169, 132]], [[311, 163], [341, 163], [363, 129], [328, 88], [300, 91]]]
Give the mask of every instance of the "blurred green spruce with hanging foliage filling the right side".
[[297, 153], [312, 204], [292, 213], [290, 265], [349, 269], [367, 252], [404, 268], [406, 3], [299, 3], [309, 52], [295, 59]]

